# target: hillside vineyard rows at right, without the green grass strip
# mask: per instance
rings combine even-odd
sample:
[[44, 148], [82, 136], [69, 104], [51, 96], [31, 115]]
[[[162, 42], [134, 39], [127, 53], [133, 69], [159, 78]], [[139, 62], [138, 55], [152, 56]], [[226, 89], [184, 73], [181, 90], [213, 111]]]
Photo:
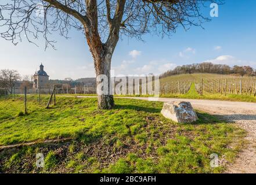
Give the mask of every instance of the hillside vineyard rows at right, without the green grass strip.
[[197, 92], [201, 93], [203, 90], [202, 94], [208, 92], [212, 94], [255, 96], [256, 93], [256, 77], [196, 73], [161, 79], [161, 94], [186, 94], [192, 83], [195, 84]]

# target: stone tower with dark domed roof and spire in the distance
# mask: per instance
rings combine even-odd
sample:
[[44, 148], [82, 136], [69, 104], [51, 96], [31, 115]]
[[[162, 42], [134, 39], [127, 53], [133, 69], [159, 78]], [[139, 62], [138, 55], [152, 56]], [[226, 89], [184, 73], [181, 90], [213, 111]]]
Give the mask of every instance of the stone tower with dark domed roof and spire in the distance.
[[40, 70], [35, 72], [33, 88], [45, 87], [49, 84], [49, 76], [44, 71], [44, 65], [39, 66]]

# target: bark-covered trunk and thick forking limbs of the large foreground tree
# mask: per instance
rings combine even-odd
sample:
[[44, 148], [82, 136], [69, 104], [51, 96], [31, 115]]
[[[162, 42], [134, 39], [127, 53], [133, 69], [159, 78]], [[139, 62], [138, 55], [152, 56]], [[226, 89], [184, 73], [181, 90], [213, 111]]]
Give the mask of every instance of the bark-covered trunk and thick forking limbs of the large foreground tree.
[[[125, 0], [118, 0], [116, 12], [114, 17], [110, 16], [109, 1], [107, 1], [107, 21], [109, 23], [109, 37], [106, 43], [102, 43], [98, 32], [98, 6], [96, 0], [86, 0], [86, 8], [88, 12], [86, 18], [82, 20], [85, 28], [85, 37], [92, 53], [96, 79], [97, 79], [97, 94], [98, 94], [98, 108], [99, 109], [112, 109], [114, 107], [114, 98], [111, 93], [111, 79], [110, 68], [111, 58], [116, 48], [122, 16], [124, 14]], [[102, 92], [101, 76], [105, 76], [107, 79], [107, 91]], [[106, 85], [105, 85], [106, 86]], [[106, 87], [105, 87], [106, 88]]]

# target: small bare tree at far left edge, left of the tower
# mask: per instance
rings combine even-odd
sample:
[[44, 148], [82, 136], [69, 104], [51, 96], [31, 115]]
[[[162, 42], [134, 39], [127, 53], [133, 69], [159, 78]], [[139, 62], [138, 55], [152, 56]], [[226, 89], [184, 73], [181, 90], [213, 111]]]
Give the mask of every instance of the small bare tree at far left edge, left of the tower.
[[10, 94], [17, 80], [20, 80], [20, 74], [16, 70], [2, 69], [0, 71], [0, 86], [6, 88]]

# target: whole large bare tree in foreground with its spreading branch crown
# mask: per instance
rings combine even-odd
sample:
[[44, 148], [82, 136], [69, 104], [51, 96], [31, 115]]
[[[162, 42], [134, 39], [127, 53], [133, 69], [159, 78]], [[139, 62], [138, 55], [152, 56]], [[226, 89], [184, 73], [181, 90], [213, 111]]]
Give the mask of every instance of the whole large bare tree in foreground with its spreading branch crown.
[[[9, 0], [0, 3], [0, 34], [15, 45], [24, 35], [34, 43], [42, 34], [45, 46], [54, 47], [55, 41], [48, 37], [52, 32], [59, 31], [67, 37], [70, 28], [82, 31], [92, 53], [96, 76], [106, 75], [109, 82], [108, 93], [98, 95], [98, 107], [111, 109], [114, 106], [110, 93], [111, 58], [120, 35], [142, 39], [148, 32], [170, 35], [179, 25], [185, 29], [200, 26], [209, 20], [200, 9], [205, 3], [220, 1]], [[98, 78], [98, 90], [100, 83]]]

